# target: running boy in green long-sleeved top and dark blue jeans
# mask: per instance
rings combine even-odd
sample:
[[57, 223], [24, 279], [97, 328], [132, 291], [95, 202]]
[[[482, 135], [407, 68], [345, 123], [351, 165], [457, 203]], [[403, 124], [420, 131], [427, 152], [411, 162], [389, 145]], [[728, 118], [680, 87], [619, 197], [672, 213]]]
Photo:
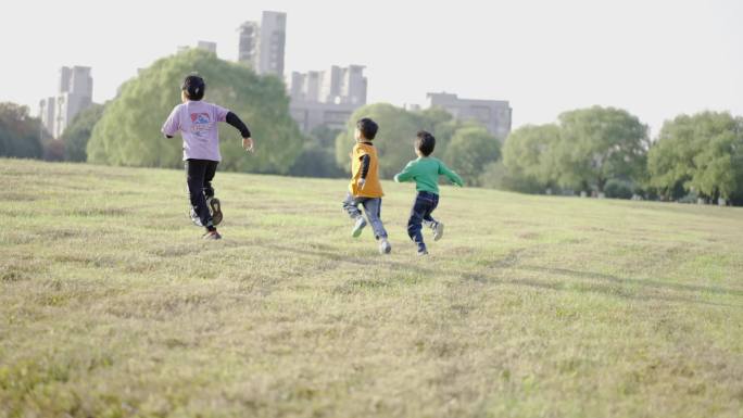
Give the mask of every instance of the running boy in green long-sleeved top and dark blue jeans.
[[394, 176], [394, 181], [415, 181], [415, 203], [411, 210], [411, 218], [407, 220], [407, 235], [418, 246], [418, 255], [426, 255], [426, 244], [420, 233], [421, 225], [426, 224], [433, 229], [433, 241], [443, 237], [443, 224], [431, 217], [431, 212], [439, 205], [439, 176], [443, 175], [459, 187], [462, 178], [452, 172], [441, 161], [429, 156], [436, 147], [436, 138], [425, 130], [418, 132], [415, 139], [415, 153], [417, 160], [413, 160], [402, 173]]

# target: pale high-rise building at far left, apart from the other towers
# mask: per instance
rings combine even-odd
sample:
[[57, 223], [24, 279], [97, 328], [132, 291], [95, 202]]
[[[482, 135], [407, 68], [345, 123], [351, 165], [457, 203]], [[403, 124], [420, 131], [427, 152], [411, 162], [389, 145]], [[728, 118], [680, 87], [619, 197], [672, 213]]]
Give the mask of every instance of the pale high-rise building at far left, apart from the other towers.
[[90, 67], [60, 68], [58, 94], [39, 103], [41, 124], [49, 135], [59, 139], [81, 111], [92, 104]]

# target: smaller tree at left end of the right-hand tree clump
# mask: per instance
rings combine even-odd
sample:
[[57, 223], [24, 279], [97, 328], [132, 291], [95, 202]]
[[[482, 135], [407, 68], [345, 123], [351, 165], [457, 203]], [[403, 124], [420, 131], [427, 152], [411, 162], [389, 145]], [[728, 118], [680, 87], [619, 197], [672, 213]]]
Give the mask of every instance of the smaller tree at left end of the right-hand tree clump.
[[511, 132], [503, 144], [503, 165], [512, 190], [541, 192], [557, 186], [559, 140], [554, 124], [527, 125]]

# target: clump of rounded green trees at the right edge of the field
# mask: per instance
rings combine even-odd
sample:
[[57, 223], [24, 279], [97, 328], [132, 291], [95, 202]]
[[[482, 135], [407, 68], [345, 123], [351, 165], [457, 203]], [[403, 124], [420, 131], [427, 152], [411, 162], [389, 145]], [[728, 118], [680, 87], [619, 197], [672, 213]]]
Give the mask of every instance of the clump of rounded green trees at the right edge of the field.
[[627, 111], [570, 111], [513, 131], [494, 168], [491, 186], [528, 193], [743, 204], [743, 118], [680, 115], [651, 141]]

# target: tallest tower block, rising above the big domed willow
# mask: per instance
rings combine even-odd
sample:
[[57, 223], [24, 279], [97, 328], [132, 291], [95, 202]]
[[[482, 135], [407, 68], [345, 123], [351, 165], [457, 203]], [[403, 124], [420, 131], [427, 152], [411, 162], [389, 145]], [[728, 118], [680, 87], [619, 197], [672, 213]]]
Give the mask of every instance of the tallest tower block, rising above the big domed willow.
[[250, 64], [257, 74], [284, 77], [287, 43], [287, 14], [263, 12], [261, 23], [245, 22], [238, 28], [238, 61]]

